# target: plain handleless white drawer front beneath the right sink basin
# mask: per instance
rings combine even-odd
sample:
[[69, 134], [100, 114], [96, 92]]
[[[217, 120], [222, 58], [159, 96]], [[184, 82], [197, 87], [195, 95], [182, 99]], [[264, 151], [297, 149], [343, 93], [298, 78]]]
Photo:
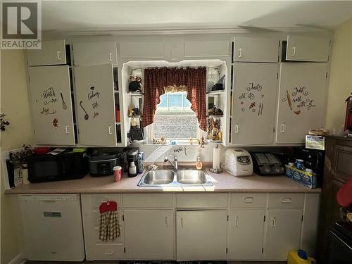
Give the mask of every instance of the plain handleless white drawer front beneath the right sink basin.
[[176, 194], [177, 208], [227, 208], [227, 194]]

